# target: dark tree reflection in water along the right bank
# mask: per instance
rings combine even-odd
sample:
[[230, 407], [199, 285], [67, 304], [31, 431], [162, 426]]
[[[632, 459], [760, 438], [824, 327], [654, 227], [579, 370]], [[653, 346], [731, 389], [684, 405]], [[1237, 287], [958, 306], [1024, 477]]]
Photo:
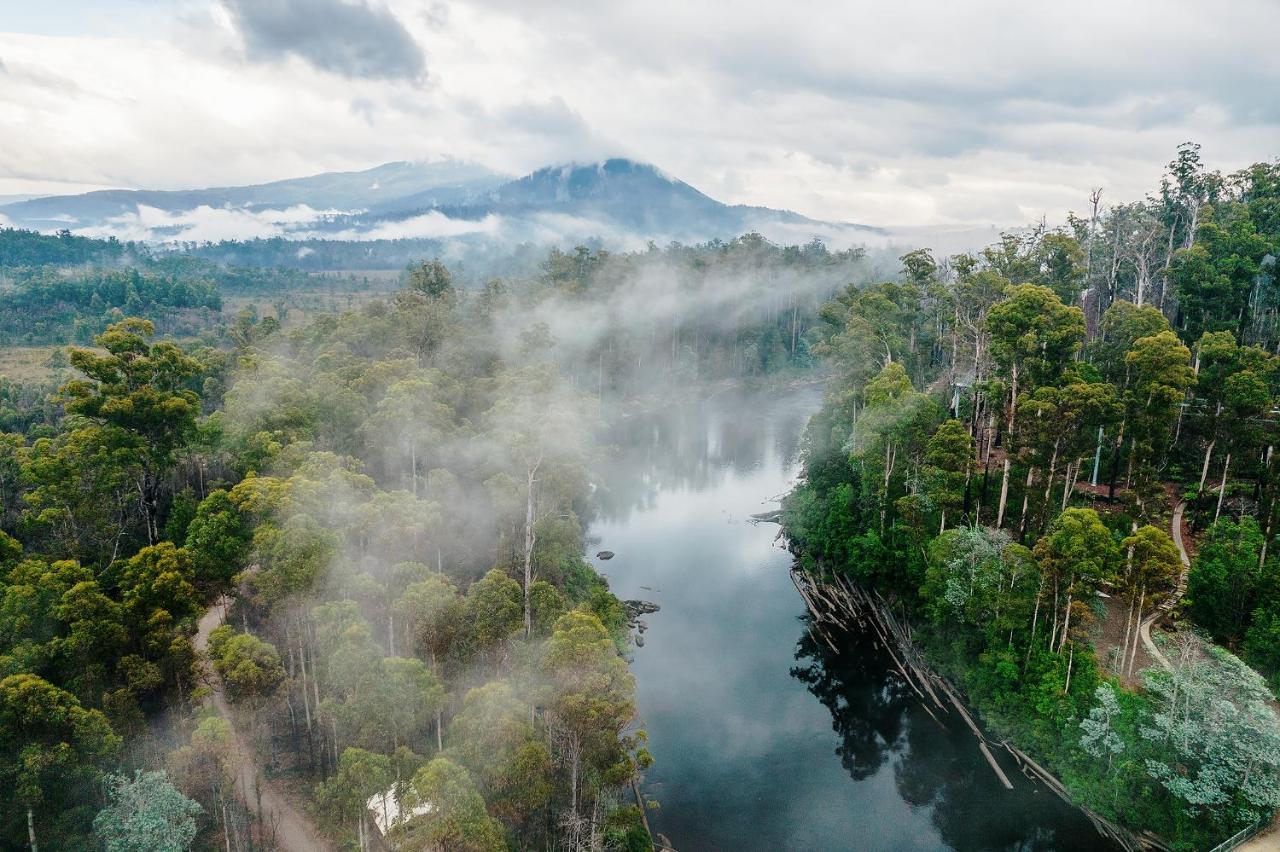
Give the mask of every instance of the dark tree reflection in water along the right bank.
[[[808, 627], [809, 615], [804, 617]], [[1107, 843], [1075, 809], [1001, 761], [1014, 791], [987, 765], [964, 724], [934, 722], [884, 652], [856, 632], [833, 635], [840, 652], [806, 629], [796, 647], [792, 677], [831, 711], [836, 752], [854, 780], [891, 765], [899, 794], [928, 809], [943, 842], [977, 849], [1105, 849]]]

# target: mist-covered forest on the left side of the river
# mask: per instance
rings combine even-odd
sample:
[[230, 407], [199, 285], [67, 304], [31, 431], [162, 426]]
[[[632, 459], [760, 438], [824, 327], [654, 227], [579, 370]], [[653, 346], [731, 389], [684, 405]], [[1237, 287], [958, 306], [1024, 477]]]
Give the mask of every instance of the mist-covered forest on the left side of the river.
[[4, 297], [92, 333], [0, 386], [0, 846], [271, 848], [285, 789], [338, 848], [652, 848], [634, 613], [585, 559], [602, 423], [809, 370], [860, 252], [420, 261], [259, 316], [220, 299], [297, 274], [0, 239]]

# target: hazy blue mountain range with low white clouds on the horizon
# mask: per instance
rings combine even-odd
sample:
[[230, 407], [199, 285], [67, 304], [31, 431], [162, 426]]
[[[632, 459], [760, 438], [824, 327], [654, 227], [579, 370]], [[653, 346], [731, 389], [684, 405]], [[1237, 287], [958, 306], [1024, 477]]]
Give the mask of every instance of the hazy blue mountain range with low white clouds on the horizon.
[[[305, 205], [310, 210], [298, 211]], [[148, 209], [161, 211], [161, 215]], [[625, 159], [508, 179], [483, 166], [390, 162], [250, 187], [101, 191], [0, 206], [15, 225], [128, 239], [502, 238], [513, 242], [696, 242], [759, 232], [778, 242], [849, 244], [881, 232], [788, 210], [726, 205], [653, 165]]]

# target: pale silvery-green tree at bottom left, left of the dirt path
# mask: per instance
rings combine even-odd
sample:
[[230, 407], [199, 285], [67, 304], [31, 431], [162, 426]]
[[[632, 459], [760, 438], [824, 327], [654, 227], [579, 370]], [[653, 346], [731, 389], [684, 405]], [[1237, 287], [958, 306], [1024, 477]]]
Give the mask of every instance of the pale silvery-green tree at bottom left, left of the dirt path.
[[106, 852], [183, 852], [196, 839], [204, 812], [179, 793], [164, 771], [106, 778], [108, 806], [93, 817], [93, 833]]

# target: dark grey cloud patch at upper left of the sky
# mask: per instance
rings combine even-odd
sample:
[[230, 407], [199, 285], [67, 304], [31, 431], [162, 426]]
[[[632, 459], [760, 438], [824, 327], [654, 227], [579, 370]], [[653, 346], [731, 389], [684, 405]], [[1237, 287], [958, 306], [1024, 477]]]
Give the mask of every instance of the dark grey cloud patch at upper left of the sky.
[[223, 0], [253, 59], [297, 56], [353, 78], [420, 79], [422, 51], [370, 0]]

